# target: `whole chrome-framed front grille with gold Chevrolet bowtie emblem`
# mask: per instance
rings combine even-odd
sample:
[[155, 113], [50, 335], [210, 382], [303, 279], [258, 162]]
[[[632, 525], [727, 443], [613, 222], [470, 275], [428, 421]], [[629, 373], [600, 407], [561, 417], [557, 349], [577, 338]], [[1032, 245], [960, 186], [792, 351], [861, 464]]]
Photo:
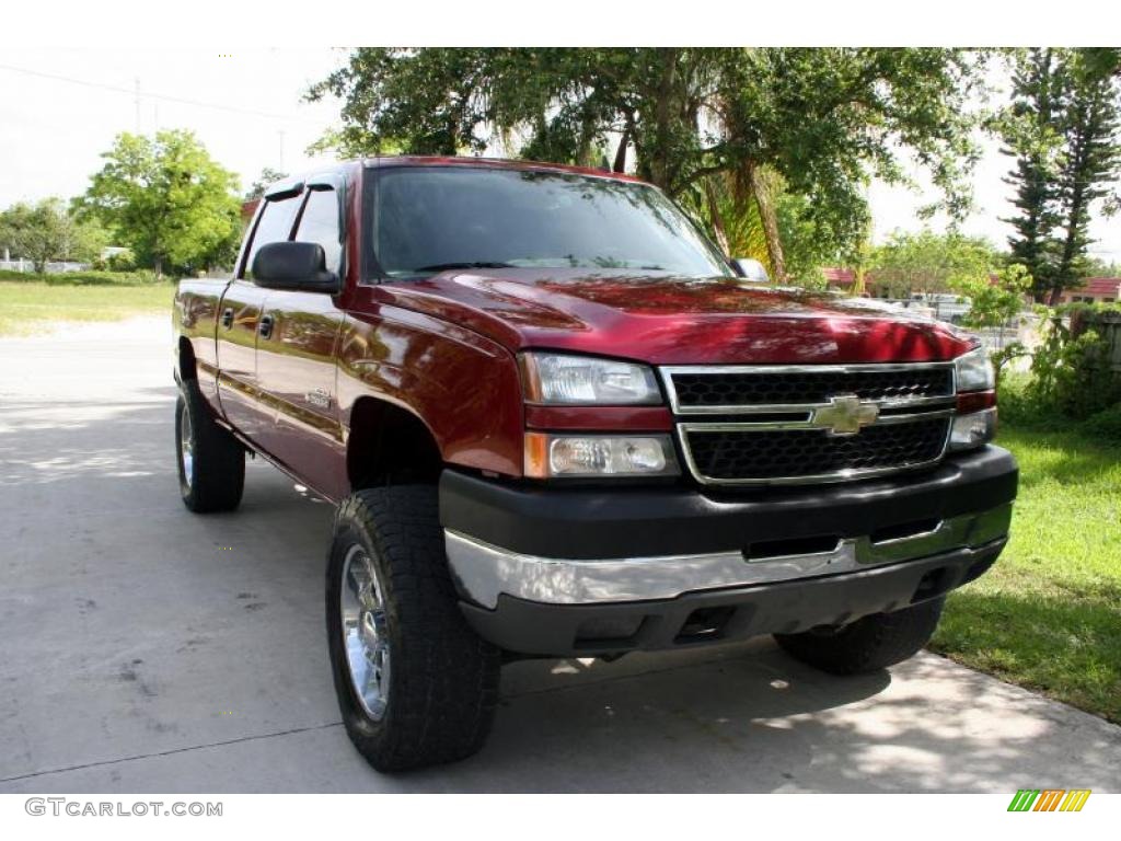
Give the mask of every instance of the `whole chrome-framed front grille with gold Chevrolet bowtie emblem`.
[[937, 462], [953, 362], [670, 366], [678, 441], [706, 484], [847, 481]]

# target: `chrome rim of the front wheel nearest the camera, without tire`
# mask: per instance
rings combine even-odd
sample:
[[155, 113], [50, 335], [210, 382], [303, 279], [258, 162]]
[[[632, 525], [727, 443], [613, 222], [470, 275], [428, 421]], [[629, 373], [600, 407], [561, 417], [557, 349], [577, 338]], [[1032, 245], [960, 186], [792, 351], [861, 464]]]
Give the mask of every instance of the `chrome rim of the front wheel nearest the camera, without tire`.
[[346, 551], [340, 588], [343, 650], [351, 686], [367, 714], [380, 721], [389, 702], [389, 634], [378, 571], [359, 545]]

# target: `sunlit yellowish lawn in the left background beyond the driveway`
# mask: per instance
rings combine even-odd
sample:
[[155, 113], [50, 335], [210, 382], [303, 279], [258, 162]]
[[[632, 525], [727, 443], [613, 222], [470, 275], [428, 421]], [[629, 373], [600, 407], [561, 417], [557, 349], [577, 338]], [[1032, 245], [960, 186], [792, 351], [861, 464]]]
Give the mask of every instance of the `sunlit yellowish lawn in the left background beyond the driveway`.
[[118, 321], [136, 315], [172, 317], [172, 283], [142, 286], [62, 286], [0, 280], [0, 335], [27, 335], [53, 321]]

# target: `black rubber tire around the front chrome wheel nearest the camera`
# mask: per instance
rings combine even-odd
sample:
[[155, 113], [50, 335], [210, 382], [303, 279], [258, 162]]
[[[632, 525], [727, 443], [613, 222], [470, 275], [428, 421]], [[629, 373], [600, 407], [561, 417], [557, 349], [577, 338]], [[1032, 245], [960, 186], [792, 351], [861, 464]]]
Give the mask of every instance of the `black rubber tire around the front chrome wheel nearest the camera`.
[[[391, 671], [380, 720], [358, 697], [343, 637], [342, 579], [355, 543], [376, 567], [383, 604]], [[498, 704], [500, 651], [460, 612], [435, 487], [374, 488], [343, 501], [327, 555], [326, 619], [343, 724], [370, 765], [400, 771], [482, 747]]]

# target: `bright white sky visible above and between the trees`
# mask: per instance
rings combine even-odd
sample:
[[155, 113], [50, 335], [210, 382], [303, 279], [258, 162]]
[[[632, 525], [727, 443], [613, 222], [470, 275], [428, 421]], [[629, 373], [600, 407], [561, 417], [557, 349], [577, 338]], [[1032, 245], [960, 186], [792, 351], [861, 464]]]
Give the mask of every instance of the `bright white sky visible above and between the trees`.
[[[263, 167], [300, 172], [316, 160], [307, 147], [339, 119], [339, 102], [308, 103], [308, 85], [345, 58], [337, 49], [216, 50], [20, 48], [0, 53], [0, 207], [50, 195], [84, 192], [101, 166], [100, 154], [121, 131], [189, 128], [248, 187]], [[139, 87], [139, 96], [137, 90]], [[1004, 247], [1012, 207], [1002, 178], [1010, 159], [981, 138], [974, 173], [976, 209], [969, 234]], [[935, 193], [873, 184], [869, 191], [873, 239], [891, 231], [935, 230], [916, 211]], [[1121, 260], [1121, 219], [1094, 218], [1091, 253]]]

